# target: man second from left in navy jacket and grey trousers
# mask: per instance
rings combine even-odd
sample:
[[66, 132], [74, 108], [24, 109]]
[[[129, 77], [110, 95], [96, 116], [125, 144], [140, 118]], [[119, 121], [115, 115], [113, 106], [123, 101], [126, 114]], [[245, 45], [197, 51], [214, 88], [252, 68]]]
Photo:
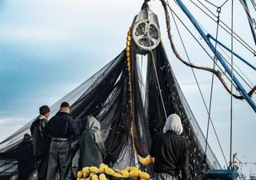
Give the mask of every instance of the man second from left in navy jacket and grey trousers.
[[44, 132], [51, 137], [46, 179], [54, 180], [57, 169], [59, 170], [60, 180], [71, 179], [70, 138], [76, 135], [76, 131], [68, 102], [62, 102], [60, 110], [46, 124]]

